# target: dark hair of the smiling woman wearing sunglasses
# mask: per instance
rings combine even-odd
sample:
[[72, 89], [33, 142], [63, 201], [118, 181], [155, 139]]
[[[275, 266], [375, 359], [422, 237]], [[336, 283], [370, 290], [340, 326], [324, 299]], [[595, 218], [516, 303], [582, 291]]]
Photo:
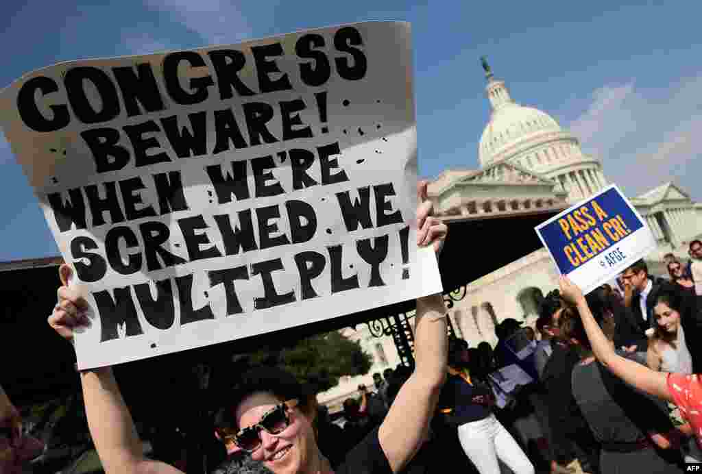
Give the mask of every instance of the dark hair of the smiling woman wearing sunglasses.
[[237, 407], [244, 398], [253, 393], [271, 393], [280, 402], [298, 400], [300, 411], [310, 417], [314, 417], [317, 411], [314, 389], [300, 384], [293, 374], [278, 367], [256, 367], [248, 370], [241, 375], [238, 384], [225, 392], [218, 402], [216, 428], [239, 429]]

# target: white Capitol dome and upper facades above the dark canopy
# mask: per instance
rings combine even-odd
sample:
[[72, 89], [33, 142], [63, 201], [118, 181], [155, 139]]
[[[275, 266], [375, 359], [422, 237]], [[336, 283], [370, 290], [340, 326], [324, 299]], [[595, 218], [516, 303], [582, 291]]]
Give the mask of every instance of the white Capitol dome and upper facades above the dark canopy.
[[[489, 120], [478, 144], [480, 168], [448, 168], [430, 180], [429, 197], [446, 222], [552, 214], [609, 185], [602, 163], [584, 154], [577, 137], [552, 116], [517, 104], [484, 57]], [[702, 233], [702, 203], [673, 182], [629, 196], [654, 234], [662, 259], [686, 258], [686, 245]]]

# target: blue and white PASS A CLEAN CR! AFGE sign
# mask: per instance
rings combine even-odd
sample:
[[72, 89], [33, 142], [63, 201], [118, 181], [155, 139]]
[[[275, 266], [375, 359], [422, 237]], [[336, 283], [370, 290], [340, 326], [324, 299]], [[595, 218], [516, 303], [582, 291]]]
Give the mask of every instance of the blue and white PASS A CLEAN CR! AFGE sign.
[[562, 275], [588, 293], [656, 248], [627, 198], [611, 185], [536, 227]]

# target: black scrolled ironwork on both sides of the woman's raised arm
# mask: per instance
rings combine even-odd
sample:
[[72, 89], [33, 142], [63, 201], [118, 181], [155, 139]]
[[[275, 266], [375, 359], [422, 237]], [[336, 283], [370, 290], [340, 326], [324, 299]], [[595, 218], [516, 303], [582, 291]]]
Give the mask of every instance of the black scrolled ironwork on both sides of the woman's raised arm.
[[[444, 303], [446, 304], [446, 308], [453, 308], [453, 305], [456, 302], [459, 302], [465, 298], [467, 292], [468, 290], [466, 286], [463, 285], [457, 290], [444, 294]], [[371, 320], [366, 323], [373, 337], [392, 337], [393, 342], [395, 342], [395, 348], [397, 348], [397, 355], [399, 355], [402, 365], [405, 365], [406, 367], [413, 367], [414, 365], [414, 334], [410, 324], [410, 320], [413, 317], [414, 315], [407, 316], [406, 313], [399, 313], [397, 315], [385, 316], [383, 318]], [[456, 337], [456, 332], [453, 330], [453, 324], [451, 323], [451, 318], [449, 318], [449, 315], [446, 315], [446, 323], [448, 326], [449, 337]]]

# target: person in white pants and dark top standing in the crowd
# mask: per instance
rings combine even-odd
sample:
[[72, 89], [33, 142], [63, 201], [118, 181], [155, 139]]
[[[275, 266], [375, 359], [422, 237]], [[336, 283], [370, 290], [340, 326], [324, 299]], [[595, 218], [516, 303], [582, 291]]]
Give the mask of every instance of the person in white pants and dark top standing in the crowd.
[[458, 440], [480, 474], [500, 474], [498, 459], [515, 474], [534, 474], [534, 465], [492, 413], [494, 394], [484, 381], [471, 377], [468, 344], [449, 343], [449, 377], [439, 397], [439, 411], [458, 427]]

